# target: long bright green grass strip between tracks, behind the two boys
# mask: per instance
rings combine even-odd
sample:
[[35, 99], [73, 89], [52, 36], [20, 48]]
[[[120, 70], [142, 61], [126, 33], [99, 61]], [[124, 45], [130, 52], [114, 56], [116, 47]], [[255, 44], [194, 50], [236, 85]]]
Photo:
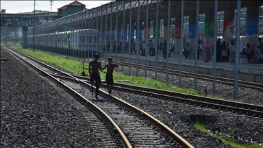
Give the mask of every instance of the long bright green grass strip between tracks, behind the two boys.
[[[70, 71], [71, 73], [74, 74], [79, 74], [82, 73], [82, 61], [76, 61], [76, 60], [68, 60], [66, 58], [60, 57], [60, 56], [52, 56], [49, 53], [45, 53], [44, 51], [40, 50], [35, 50], [33, 52], [32, 49], [23, 49], [20, 44], [14, 44], [14, 42], [8, 42], [8, 45], [12, 49], [16, 49], [18, 51], [21, 51], [23, 53], [26, 53], [29, 56], [33, 56], [39, 60], [43, 60], [47, 62], [47, 64], [53, 64], [55, 66], [60, 66], [62, 69], [66, 69], [67, 71]], [[101, 61], [104, 63], [104, 61]], [[88, 68], [88, 63], [84, 64], [84, 68]], [[85, 72], [88, 73], [87, 70]], [[101, 73], [101, 79], [105, 80], [105, 73]], [[200, 95], [197, 93], [197, 90], [189, 88], [179, 88], [172, 86], [169, 83], [166, 82], [160, 82], [160, 81], [155, 81], [154, 79], [149, 79], [145, 77], [136, 77], [135, 75], [123, 75], [121, 72], [116, 72], [114, 71], [114, 82], [118, 82], [121, 84], [130, 84], [130, 85], [135, 85], [135, 86], [142, 86], [142, 87], [148, 87], [148, 88], [155, 88], [155, 89], [161, 89], [161, 90], [168, 90], [168, 91], [173, 91], [173, 92], [178, 92], [178, 93], [187, 93], [190, 95], [199, 95], [199, 96], [205, 96], [205, 95]], [[213, 96], [209, 95], [207, 97], [213, 97], [216, 99], [223, 99], [222, 97], [218, 96]]]

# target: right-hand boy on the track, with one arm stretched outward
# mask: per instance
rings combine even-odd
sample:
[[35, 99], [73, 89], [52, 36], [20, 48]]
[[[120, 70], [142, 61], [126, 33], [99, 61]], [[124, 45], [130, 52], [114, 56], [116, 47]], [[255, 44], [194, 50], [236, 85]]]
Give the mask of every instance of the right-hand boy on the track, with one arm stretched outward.
[[114, 71], [114, 67], [118, 67], [117, 64], [112, 64], [112, 58], [109, 57], [108, 58], [108, 64], [106, 64], [103, 68], [103, 70], [105, 68], [107, 68], [107, 73], [106, 73], [106, 84], [107, 84], [107, 87], [108, 87], [108, 91], [109, 91], [109, 94], [112, 93], [112, 88], [113, 88], [113, 71]]

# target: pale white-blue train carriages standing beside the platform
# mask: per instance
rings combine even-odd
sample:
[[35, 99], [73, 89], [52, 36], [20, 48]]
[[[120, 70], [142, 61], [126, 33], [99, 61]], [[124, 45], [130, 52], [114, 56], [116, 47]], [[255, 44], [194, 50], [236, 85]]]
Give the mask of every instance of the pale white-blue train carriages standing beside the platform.
[[[33, 47], [34, 36], [27, 36], [28, 47]], [[90, 51], [90, 55], [101, 50], [101, 34], [95, 29], [80, 29], [67, 32], [53, 32], [49, 34], [36, 34], [35, 46], [38, 49], [52, 48], [60, 52], [69, 50], [73, 53]]]

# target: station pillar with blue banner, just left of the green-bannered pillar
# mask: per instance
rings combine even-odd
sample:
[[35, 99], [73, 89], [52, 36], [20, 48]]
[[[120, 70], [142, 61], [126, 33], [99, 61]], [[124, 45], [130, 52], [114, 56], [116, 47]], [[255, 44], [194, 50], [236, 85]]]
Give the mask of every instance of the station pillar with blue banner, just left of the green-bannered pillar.
[[197, 15], [193, 14], [189, 16], [189, 39], [188, 39], [188, 43], [190, 45], [190, 50], [191, 53], [195, 53], [195, 40], [196, 40], [196, 20], [197, 20]]

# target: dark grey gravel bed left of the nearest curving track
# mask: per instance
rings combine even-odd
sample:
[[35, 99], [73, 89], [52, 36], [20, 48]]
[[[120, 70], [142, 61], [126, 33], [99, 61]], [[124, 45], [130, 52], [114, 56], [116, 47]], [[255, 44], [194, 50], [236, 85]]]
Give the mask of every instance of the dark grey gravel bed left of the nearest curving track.
[[86, 119], [1, 49], [1, 147], [99, 147]]

